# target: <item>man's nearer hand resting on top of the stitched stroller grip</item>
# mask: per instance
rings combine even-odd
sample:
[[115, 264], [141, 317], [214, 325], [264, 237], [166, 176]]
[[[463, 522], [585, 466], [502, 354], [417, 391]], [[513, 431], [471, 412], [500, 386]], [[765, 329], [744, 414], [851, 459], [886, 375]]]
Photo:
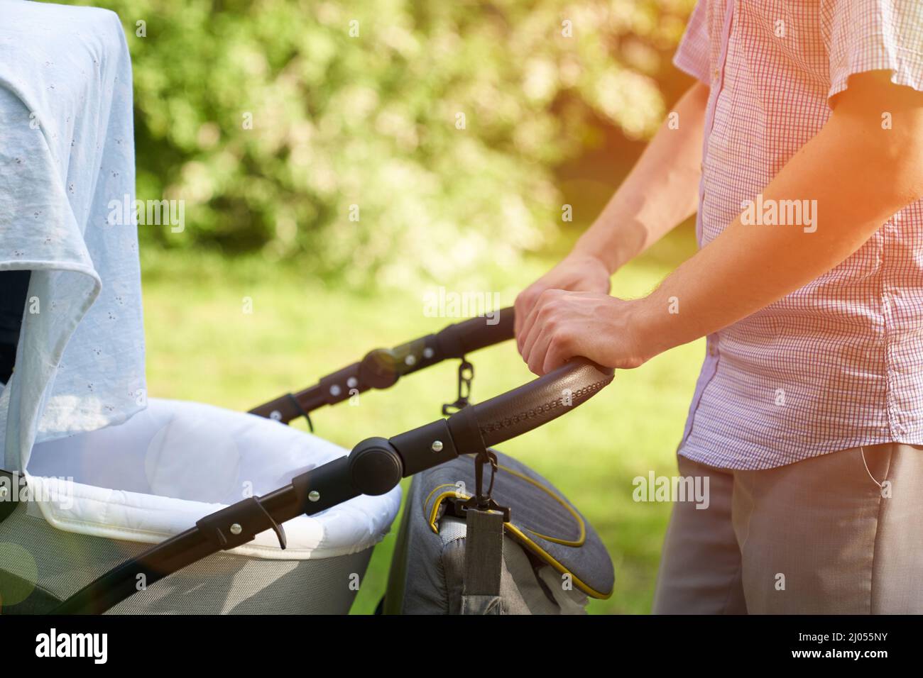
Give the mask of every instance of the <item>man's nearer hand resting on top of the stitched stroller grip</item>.
[[604, 292], [545, 290], [523, 318], [520, 352], [536, 375], [575, 356], [605, 367], [638, 367], [656, 352], [643, 345], [640, 310], [638, 302]]

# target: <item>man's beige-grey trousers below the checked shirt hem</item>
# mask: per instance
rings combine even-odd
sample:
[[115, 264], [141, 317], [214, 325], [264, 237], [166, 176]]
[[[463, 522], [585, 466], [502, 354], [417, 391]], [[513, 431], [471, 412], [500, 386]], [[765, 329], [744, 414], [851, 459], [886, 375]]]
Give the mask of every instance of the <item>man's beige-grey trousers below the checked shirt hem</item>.
[[710, 504], [673, 507], [654, 613], [923, 613], [923, 447], [679, 474]]

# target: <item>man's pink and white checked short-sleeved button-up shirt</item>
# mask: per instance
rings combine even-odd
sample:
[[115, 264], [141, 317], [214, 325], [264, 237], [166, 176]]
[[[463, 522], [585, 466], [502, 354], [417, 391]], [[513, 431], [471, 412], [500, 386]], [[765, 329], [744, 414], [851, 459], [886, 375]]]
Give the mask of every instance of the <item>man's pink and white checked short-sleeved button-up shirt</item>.
[[[923, 90], [923, 0], [699, 0], [674, 62], [711, 88], [704, 245], [818, 133], [849, 76], [887, 70]], [[708, 338], [679, 453], [768, 469], [887, 442], [923, 445], [923, 201]]]

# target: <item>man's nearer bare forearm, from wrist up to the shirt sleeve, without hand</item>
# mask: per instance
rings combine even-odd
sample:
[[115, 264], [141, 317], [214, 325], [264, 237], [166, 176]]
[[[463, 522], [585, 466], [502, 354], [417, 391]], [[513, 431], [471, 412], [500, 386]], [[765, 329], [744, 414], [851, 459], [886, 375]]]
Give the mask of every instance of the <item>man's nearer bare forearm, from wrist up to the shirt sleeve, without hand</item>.
[[816, 205], [816, 231], [738, 217], [641, 303], [639, 322], [653, 351], [710, 334], [797, 290], [923, 196], [920, 117], [908, 111], [898, 121], [895, 114], [894, 128], [885, 130], [877, 117], [834, 113], [762, 193], [764, 205]]

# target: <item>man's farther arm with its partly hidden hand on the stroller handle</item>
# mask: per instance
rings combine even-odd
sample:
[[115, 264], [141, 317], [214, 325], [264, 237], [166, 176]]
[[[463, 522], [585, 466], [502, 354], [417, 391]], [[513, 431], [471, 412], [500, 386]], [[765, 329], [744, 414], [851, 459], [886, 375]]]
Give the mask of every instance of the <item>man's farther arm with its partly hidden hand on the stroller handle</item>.
[[609, 277], [695, 212], [708, 88], [693, 85], [571, 253], [516, 298], [516, 334], [549, 289], [609, 291]]

